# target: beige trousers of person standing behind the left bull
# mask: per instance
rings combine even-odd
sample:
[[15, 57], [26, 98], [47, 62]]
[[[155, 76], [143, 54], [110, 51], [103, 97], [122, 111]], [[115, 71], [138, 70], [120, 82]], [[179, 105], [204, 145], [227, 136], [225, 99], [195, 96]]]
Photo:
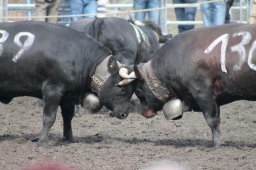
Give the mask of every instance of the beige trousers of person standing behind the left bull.
[[[34, 16], [58, 15], [61, 0], [35, 0]], [[46, 21], [56, 24], [56, 18], [34, 18], [34, 21]]]

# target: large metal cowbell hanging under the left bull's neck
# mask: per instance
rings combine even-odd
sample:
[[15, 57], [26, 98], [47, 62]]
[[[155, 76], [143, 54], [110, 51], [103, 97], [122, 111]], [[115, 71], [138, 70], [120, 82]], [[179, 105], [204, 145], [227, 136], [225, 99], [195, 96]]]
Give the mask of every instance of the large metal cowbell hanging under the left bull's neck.
[[103, 105], [100, 104], [100, 101], [98, 99], [98, 96], [94, 94], [93, 92], [86, 92], [82, 108], [88, 110], [91, 113], [96, 113], [102, 109]]

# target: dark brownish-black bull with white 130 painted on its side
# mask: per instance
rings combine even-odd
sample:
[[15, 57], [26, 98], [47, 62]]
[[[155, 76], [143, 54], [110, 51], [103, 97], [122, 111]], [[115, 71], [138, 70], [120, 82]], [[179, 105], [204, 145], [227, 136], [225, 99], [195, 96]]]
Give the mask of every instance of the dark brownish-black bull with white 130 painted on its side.
[[143, 116], [155, 116], [167, 102], [160, 101], [145, 84], [154, 71], [169, 90], [168, 102], [178, 98], [184, 111], [203, 113], [213, 146], [220, 148], [219, 106], [256, 100], [255, 28], [256, 24], [226, 24], [189, 30], [166, 42], [153, 54], [151, 64], [135, 65], [135, 94]]

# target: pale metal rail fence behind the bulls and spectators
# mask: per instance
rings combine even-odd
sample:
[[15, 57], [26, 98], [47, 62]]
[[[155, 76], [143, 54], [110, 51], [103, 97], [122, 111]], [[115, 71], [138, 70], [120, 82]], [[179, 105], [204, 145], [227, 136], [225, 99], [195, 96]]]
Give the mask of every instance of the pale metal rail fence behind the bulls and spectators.
[[[32, 15], [33, 9], [35, 8], [35, 4], [30, 4], [30, 0], [26, 0], [26, 4], [9, 4], [8, 0], [5, 0], [5, 6], [4, 0], [0, 0], [0, 16], [9, 16], [9, 11], [26, 11], [28, 16]], [[132, 9], [133, 4], [131, 3], [131, 0], [126, 0], [126, 4], [121, 4], [119, 0], [117, 0], [117, 4], [106, 4], [106, 5], [98, 5], [100, 8], [105, 8], [103, 11], [99, 10], [99, 12], [108, 13], [108, 12], [119, 12], [121, 9]], [[168, 4], [167, 0], [161, 0], [161, 7], [171, 7], [173, 5], [180, 5], [180, 4]], [[239, 19], [238, 20], [231, 20], [231, 22], [241, 22], [241, 23], [247, 23], [249, 20], [249, 14], [251, 10], [251, 4], [252, 0], [239, 0], [239, 4], [234, 4], [230, 8], [230, 15], [232, 18], [233, 11], [239, 11]], [[200, 10], [200, 5], [195, 5], [194, 7], [197, 7], [197, 11]], [[170, 9], [163, 9], [160, 11], [160, 26], [164, 32], [167, 32], [167, 26], [168, 25], [202, 25], [203, 22], [200, 21], [176, 21], [176, 20], [169, 20], [168, 12]], [[65, 0], [61, 3], [59, 7], [59, 13], [60, 14], [68, 14], [70, 13], [69, 4]], [[120, 17], [119, 14], [117, 14], [117, 17]], [[245, 20], [243, 20], [245, 18]], [[31, 20], [31, 18], [28, 18], [28, 20]], [[9, 22], [8, 19], [3, 20], [0, 18], [0, 22]], [[67, 24], [69, 20], [61, 18], [59, 20], [59, 24]]]

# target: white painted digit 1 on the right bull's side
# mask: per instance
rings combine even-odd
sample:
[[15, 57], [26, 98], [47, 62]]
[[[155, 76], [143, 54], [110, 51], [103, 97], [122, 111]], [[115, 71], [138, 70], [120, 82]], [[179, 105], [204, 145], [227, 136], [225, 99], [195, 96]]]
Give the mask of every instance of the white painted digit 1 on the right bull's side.
[[214, 49], [214, 47], [216, 47], [216, 45], [219, 42], [222, 42], [221, 43], [221, 70], [226, 73], [227, 73], [227, 70], [226, 70], [226, 66], [225, 66], [225, 61], [226, 61], [226, 49], [227, 49], [227, 45], [228, 45], [228, 37], [229, 37], [228, 34], [223, 34], [222, 36], [219, 36], [216, 40], [214, 40], [209, 45], [209, 47], [207, 47], [206, 50], [204, 50], [204, 53], [208, 54]]

